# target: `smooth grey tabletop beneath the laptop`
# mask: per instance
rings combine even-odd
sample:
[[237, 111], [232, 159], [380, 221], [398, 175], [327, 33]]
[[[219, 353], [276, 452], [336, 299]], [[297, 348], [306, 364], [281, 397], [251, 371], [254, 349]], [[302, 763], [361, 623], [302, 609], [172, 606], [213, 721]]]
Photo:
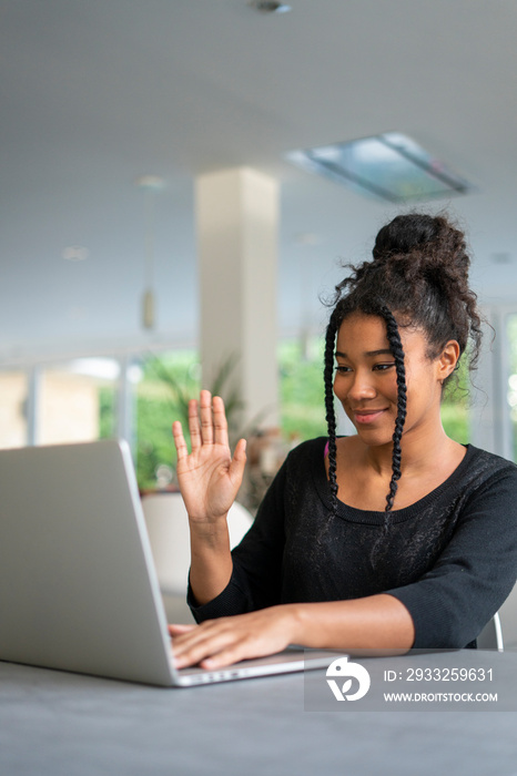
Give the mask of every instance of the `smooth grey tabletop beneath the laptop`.
[[301, 674], [161, 690], [0, 663], [0, 774], [515, 776], [517, 712], [306, 712]]

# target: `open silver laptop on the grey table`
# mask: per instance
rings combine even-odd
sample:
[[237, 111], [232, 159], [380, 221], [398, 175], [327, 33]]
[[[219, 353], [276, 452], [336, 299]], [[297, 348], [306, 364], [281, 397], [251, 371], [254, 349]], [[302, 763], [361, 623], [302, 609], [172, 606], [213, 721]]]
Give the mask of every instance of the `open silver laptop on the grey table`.
[[326, 668], [333, 656], [293, 647], [176, 670], [129, 445], [0, 450], [0, 660], [193, 686]]

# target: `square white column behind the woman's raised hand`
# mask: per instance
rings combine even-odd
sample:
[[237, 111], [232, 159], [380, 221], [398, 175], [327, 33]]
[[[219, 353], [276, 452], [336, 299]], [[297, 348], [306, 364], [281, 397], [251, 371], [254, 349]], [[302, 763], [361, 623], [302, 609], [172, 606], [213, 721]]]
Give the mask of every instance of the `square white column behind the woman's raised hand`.
[[237, 358], [241, 422], [264, 413], [261, 425], [276, 426], [278, 185], [239, 167], [200, 176], [195, 193], [203, 386]]

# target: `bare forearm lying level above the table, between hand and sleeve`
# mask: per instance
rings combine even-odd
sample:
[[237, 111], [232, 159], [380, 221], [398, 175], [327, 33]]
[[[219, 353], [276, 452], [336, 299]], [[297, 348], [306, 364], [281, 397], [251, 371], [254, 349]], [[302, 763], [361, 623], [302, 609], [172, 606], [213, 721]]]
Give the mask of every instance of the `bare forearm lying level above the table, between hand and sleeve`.
[[293, 641], [331, 650], [409, 650], [413, 619], [393, 595], [293, 604]]

